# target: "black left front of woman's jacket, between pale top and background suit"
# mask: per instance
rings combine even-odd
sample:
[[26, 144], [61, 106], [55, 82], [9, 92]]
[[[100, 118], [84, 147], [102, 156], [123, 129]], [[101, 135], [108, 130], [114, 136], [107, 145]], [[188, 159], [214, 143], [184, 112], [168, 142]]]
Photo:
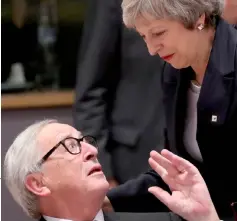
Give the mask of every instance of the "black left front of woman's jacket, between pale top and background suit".
[[164, 103], [168, 127], [169, 149], [188, 157], [183, 148], [183, 131], [187, 109], [187, 90], [192, 76], [186, 70], [177, 70], [167, 64], [165, 69]]

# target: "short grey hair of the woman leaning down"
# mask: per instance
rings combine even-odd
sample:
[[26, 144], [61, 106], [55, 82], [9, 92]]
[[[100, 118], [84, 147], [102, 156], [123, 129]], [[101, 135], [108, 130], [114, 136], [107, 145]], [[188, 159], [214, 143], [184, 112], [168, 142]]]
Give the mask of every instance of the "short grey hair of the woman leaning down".
[[135, 28], [139, 16], [152, 16], [154, 19], [172, 19], [194, 28], [198, 18], [205, 14], [206, 25], [214, 25], [214, 17], [220, 16], [224, 0], [123, 0], [123, 22]]

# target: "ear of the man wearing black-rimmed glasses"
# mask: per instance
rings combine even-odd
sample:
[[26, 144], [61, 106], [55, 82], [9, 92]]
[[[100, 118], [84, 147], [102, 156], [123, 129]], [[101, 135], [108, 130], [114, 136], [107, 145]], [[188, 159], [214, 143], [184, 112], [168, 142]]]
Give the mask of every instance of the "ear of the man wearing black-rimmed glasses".
[[25, 180], [26, 188], [37, 196], [48, 196], [51, 191], [42, 182], [42, 174], [29, 174]]

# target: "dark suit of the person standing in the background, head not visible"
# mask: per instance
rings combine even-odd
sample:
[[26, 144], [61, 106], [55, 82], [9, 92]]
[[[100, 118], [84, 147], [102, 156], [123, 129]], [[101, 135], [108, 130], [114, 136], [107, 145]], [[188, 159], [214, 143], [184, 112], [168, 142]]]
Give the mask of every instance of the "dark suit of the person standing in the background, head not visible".
[[[163, 148], [163, 62], [123, 25], [121, 0], [88, 3], [74, 123], [99, 140], [102, 152], [109, 151], [113, 176], [123, 183], [148, 169], [150, 150]], [[105, 151], [99, 156], [102, 165], [104, 156]], [[107, 177], [108, 168], [103, 167]]]

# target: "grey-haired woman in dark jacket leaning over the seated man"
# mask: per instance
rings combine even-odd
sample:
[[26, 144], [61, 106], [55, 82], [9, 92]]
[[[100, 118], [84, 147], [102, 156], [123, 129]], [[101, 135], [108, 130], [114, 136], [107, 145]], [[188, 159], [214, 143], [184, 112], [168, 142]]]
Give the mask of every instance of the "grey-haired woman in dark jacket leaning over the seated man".
[[[222, 0], [124, 0], [123, 21], [166, 64], [166, 144], [201, 172], [220, 217], [237, 201], [237, 32]], [[224, 171], [224, 172], [223, 172]], [[147, 189], [169, 187], [150, 171], [108, 198], [115, 211], [162, 211]]]

